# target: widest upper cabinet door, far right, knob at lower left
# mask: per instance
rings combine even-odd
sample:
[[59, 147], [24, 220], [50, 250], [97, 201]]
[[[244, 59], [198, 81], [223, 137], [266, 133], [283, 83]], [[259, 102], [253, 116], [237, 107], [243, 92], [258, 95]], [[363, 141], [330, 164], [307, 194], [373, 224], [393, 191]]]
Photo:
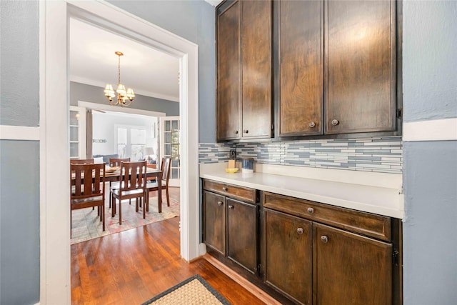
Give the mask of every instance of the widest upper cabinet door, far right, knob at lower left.
[[325, 133], [395, 130], [395, 1], [326, 6]]

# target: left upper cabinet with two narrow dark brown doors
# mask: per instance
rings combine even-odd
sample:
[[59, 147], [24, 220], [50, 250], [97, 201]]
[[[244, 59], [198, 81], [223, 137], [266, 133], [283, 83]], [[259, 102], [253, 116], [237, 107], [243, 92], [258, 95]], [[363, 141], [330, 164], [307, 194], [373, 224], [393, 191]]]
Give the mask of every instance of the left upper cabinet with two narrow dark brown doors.
[[271, 1], [227, 5], [217, 14], [217, 140], [269, 138]]

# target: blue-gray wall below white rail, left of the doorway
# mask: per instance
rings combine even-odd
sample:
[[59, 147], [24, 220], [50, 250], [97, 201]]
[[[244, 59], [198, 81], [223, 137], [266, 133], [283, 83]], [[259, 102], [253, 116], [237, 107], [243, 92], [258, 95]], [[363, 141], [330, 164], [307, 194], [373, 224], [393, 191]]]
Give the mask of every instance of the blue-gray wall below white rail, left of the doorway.
[[39, 142], [0, 140], [0, 164], [0, 304], [36, 304]]

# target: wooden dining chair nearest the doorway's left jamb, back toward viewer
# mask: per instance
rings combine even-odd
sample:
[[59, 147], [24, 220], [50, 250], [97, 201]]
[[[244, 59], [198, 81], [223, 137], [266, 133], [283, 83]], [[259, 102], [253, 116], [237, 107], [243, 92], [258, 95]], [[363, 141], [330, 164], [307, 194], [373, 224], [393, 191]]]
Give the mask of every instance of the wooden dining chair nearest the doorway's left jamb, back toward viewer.
[[[89, 178], [89, 179], [88, 179]], [[105, 164], [70, 164], [71, 212], [97, 206], [105, 231]], [[70, 225], [71, 237], [71, 225]]]

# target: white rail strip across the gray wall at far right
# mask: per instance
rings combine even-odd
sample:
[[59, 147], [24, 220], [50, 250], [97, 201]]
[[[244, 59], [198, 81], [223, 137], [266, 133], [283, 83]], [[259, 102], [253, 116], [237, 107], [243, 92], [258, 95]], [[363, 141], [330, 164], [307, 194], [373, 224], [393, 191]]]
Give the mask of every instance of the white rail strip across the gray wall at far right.
[[456, 141], [457, 118], [403, 122], [403, 141]]

